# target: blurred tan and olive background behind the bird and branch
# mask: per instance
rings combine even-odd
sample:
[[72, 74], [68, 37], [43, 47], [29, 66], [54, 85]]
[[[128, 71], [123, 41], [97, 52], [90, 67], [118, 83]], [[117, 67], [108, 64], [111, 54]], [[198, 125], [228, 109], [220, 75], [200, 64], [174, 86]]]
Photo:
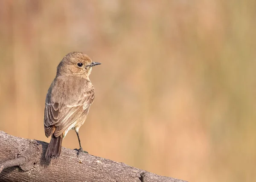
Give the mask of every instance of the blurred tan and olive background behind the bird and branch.
[[[61, 59], [102, 65], [84, 150], [190, 182], [256, 181], [256, 1], [1, 0], [0, 130], [49, 142]], [[63, 140], [79, 148], [76, 133]]]

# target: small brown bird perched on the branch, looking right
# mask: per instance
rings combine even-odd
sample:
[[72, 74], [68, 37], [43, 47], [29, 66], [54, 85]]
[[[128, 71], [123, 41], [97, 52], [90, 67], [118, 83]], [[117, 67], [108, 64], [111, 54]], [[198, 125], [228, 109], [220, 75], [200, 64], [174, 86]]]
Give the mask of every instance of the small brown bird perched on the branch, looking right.
[[45, 100], [44, 131], [47, 137], [52, 136], [45, 155], [47, 160], [59, 157], [62, 139], [70, 129], [76, 131], [78, 151], [83, 151], [78, 131], [94, 100], [89, 75], [92, 67], [99, 64], [81, 52], [71, 52], [59, 63]]

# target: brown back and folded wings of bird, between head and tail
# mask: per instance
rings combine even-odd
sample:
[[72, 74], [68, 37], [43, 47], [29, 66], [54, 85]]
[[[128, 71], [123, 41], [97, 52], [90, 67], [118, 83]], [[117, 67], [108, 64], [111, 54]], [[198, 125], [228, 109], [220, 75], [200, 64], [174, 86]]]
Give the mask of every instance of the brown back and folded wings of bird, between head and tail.
[[[46, 97], [45, 129], [54, 125], [55, 137], [63, 132], [67, 134], [72, 128], [79, 129], [87, 117], [93, 100], [94, 87], [90, 80], [73, 76], [56, 77]], [[58, 108], [55, 105], [58, 105]]]

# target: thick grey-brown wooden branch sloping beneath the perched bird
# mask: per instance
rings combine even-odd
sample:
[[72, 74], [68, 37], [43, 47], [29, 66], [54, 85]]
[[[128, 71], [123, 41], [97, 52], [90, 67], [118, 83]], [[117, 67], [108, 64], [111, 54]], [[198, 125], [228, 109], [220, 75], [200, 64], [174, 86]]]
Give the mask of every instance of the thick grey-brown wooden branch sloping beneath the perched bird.
[[185, 182], [64, 147], [47, 162], [47, 146], [0, 131], [0, 182]]

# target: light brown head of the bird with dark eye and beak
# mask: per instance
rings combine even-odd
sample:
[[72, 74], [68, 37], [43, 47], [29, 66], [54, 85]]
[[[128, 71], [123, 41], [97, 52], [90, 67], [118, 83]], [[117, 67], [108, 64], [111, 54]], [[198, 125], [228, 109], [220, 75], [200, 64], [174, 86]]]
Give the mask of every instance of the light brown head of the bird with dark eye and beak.
[[57, 76], [76, 76], [88, 78], [92, 67], [101, 63], [93, 62], [89, 56], [82, 52], [70, 52], [59, 63], [57, 67]]

